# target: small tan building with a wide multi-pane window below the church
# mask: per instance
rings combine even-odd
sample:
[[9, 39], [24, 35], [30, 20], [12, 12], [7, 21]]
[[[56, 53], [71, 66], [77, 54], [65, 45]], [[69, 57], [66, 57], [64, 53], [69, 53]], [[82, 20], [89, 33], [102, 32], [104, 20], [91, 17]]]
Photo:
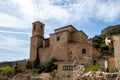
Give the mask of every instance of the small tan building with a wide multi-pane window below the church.
[[57, 80], [73, 80], [73, 62], [56, 62]]

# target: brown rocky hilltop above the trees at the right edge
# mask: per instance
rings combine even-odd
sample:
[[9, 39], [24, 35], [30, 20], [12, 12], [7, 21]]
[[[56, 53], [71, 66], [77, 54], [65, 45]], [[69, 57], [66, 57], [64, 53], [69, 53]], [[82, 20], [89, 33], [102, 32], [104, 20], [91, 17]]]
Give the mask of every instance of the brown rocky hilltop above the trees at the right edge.
[[114, 35], [114, 34], [120, 34], [120, 24], [115, 26], [108, 26], [101, 32], [101, 35]]

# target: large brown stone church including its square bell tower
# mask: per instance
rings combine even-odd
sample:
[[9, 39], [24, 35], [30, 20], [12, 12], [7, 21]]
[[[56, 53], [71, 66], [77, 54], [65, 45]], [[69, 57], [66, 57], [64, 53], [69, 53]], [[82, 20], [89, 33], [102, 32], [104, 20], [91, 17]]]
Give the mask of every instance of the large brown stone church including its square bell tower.
[[32, 37], [30, 45], [30, 60], [39, 56], [41, 63], [48, 62], [55, 57], [59, 61], [81, 60], [92, 65], [100, 53], [89, 44], [88, 36], [68, 25], [55, 29], [49, 38], [44, 38], [45, 24], [36, 21], [32, 24]]

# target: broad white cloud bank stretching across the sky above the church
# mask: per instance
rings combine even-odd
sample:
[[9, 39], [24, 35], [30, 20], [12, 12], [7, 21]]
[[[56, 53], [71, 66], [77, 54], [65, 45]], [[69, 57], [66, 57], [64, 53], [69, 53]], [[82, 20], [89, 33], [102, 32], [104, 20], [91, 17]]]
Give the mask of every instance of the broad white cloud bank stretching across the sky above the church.
[[[9, 6], [17, 6], [21, 17], [0, 12], [0, 25], [12, 28], [28, 28], [34, 20], [53, 20], [62, 24], [95, 18], [112, 22], [120, 18], [120, 0], [10, 0]], [[14, 5], [13, 5], [14, 4]], [[19, 13], [18, 13], [19, 14]], [[16, 25], [17, 24], [17, 25]]]

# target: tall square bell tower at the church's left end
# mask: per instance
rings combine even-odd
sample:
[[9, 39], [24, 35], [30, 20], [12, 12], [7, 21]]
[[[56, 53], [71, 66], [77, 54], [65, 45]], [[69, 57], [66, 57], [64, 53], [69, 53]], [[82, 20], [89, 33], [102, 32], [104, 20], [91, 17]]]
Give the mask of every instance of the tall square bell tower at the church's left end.
[[38, 53], [38, 48], [43, 47], [45, 24], [36, 21], [32, 23], [32, 37], [30, 45], [30, 60], [34, 61]]

